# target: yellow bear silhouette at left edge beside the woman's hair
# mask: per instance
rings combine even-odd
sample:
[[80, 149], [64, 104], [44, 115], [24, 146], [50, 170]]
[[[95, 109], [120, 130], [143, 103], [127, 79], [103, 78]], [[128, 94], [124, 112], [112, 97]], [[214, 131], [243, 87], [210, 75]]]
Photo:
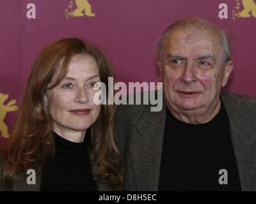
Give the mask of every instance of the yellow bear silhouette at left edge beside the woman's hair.
[[18, 110], [18, 106], [15, 105], [16, 100], [11, 100], [9, 103], [4, 105], [4, 102], [9, 98], [8, 94], [0, 93], [0, 133], [3, 138], [8, 138], [8, 127], [4, 123], [6, 113]]

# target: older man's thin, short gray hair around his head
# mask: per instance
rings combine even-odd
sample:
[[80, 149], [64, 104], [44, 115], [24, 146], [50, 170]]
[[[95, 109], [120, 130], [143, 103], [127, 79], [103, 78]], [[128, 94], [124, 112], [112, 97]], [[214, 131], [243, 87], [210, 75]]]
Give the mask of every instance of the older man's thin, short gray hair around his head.
[[164, 33], [162, 34], [162, 36], [159, 38], [157, 42], [157, 48], [156, 48], [157, 60], [161, 61], [166, 38], [168, 38], [168, 36], [170, 36], [170, 34], [173, 31], [177, 29], [182, 29], [184, 27], [197, 28], [201, 30], [205, 29], [205, 30], [209, 30], [213, 34], [216, 34], [216, 36], [218, 36], [221, 41], [221, 49], [223, 50], [222, 51], [223, 65], [227, 64], [227, 62], [231, 60], [231, 48], [230, 48], [230, 41], [229, 41], [227, 32], [224, 31], [223, 29], [220, 29], [220, 27], [218, 27], [217, 25], [214, 25], [212, 22], [209, 22], [199, 17], [180, 18], [180, 20], [175, 21], [173, 24], [167, 27], [167, 29], [164, 31]]

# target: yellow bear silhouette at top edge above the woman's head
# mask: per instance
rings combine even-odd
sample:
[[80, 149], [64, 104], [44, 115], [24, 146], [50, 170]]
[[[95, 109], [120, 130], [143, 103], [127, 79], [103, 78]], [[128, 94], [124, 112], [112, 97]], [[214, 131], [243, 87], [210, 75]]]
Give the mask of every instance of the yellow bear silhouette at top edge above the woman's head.
[[70, 0], [68, 9], [65, 10], [66, 17], [95, 17], [95, 13], [92, 13], [92, 6], [88, 0], [75, 0], [76, 10], [73, 11], [74, 1]]

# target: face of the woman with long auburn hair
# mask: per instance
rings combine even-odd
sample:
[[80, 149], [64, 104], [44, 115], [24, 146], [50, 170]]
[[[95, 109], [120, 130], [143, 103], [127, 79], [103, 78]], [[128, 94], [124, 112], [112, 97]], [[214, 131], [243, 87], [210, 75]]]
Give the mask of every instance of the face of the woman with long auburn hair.
[[[57, 71], [52, 83], [58, 74]], [[54, 120], [54, 131], [57, 129], [57, 133], [65, 135], [67, 132], [84, 132], [92, 126], [100, 112], [100, 105], [93, 103], [93, 96], [97, 92], [93, 90], [96, 82], [100, 82], [99, 68], [93, 57], [74, 55], [67, 76], [46, 93], [45, 100]]]

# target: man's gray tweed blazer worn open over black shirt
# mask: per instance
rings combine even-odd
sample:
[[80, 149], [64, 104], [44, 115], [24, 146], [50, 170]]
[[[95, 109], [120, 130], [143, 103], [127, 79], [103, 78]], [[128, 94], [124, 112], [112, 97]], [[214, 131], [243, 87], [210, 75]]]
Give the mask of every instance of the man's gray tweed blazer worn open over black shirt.
[[[242, 191], [256, 191], [256, 98], [221, 92], [230, 123]], [[120, 105], [116, 137], [124, 163], [124, 191], [157, 191], [166, 119], [150, 105]]]

